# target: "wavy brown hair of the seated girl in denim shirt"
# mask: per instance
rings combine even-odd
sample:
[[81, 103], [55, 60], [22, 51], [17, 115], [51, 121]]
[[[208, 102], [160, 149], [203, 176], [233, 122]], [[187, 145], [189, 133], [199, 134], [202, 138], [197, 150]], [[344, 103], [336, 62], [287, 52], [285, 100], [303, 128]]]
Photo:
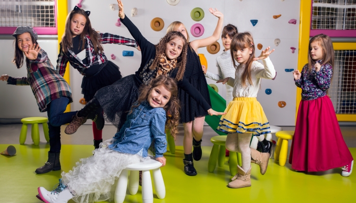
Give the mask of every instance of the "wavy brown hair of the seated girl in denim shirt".
[[130, 114], [132, 109], [138, 107], [143, 101], [147, 100], [150, 92], [153, 88], [163, 85], [169, 92], [170, 98], [166, 106], [163, 109], [166, 111], [166, 129], [169, 129], [172, 137], [175, 139], [176, 134], [178, 133], [178, 124], [180, 119], [181, 105], [178, 98], [178, 87], [175, 81], [172, 78], [169, 78], [164, 75], [159, 75], [157, 78], [152, 79], [149, 85], [141, 85], [140, 94], [137, 99], [137, 105], [131, 107]]

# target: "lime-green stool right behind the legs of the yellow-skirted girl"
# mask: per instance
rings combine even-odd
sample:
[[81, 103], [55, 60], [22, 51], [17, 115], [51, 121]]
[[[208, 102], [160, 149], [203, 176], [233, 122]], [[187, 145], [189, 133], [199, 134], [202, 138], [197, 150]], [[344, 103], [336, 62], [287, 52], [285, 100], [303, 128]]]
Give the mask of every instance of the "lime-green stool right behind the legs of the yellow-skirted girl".
[[[217, 161], [218, 161], [218, 166], [220, 167], [224, 166], [226, 137], [227, 136], [215, 136], [212, 139], [210, 139], [210, 142], [212, 142], [214, 145], [213, 145], [212, 152], [210, 153], [209, 162], [207, 164], [207, 171], [211, 173], [214, 172]], [[241, 166], [241, 154], [230, 151], [229, 165], [230, 165], [231, 176], [234, 176], [236, 175], [236, 173], [238, 173], [238, 168], [236, 167], [238, 163]]]

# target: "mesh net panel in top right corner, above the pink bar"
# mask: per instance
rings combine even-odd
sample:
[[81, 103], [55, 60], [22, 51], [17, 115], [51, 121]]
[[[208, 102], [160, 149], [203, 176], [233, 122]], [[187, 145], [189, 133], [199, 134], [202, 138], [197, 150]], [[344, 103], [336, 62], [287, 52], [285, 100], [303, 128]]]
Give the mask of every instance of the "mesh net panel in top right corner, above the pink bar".
[[314, 0], [311, 29], [355, 29], [356, 0]]

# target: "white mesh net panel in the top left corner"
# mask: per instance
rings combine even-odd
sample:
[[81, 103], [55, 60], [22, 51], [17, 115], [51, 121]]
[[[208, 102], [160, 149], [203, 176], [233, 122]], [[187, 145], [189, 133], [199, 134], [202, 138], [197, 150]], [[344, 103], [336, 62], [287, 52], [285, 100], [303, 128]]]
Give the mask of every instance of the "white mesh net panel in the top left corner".
[[0, 27], [55, 27], [54, 0], [0, 0]]

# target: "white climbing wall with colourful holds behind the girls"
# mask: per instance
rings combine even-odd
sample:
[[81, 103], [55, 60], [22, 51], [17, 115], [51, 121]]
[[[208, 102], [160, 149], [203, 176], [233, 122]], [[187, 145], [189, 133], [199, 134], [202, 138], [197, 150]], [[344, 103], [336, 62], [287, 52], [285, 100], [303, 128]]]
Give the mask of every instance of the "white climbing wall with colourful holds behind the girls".
[[[175, 0], [178, 2], [179, 0]], [[174, 2], [174, 1], [171, 1]], [[69, 10], [73, 9], [79, 1], [68, 1]], [[124, 0], [124, 9], [126, 15], [138, 27], [142, 35], [150, 42], [157, 44], [165, 35], [167, 26], [173, 21], [181, 21], [187, 27], [190, 39], [203, 39], [213, 34], [218, 18], [209, 12], [209, 8], [217, 8], [224, 14], [224, 25], [230, 23], [238, 27], [239, 31], [250, 31], [254, 37], [255, 44], [261, 44], [262, 49], [271, 46], [276, 49], [271, 55], [271, 60], [275, 65], [277, 77], [275, 80], [262, 80], [261, 90], [257, 96], [260, 101], [270, 123], [272, 125], [294, 125], [295, 119], [295, 94], [296, 87], [293, 82], [291, 72], [287, 71], [296, 69], [298, 60], [298, 37], [299, 37], [299, 15], [300, 1], [297, 0], [194, 0], [180, 1], [176, 6], [171, 6], [165, 0]], [[116, 35], [131, 38], [127, 28], [117, 21], [118, 8], [115, 0], [83, 0], [81, 1], [82, 9], [91, 11], [90, 19], [92, 27], [101, 32], [110, 32]], [[110, 4], [112, 4], [110, 6]], [[132, 17], [131, 10], [137, 8], [137, 15]], [[191, 11], [194, 8], [201, 8], [204, 12], [204, 17], [195, 21], [191, 17]], [[195, 10], [193, 18], [199, 18], [199, 14]], [[279, 16], [280, 15], [280, 16]], [[160, 31], [155, 31], [151, 27], [151, 21], [154, 18], [161, 18], [164, 26]], [[201, 18], [201, 17], [200, 17]], [[295, 19], [295, 20], [293, 20]], [[251, 21], [252, 20], [252, 21]], [[256, 23], [257, 22], [257, 23]], [[199, 23], [199, 25], [195, 25]], [[117, 26], [120, 25], [120, 26]], [[154, 27], [162, 27], [162, 22], [153, 23]], [[193, 31], [197, 33], [194, 37], [190, 31], [194, 25]], [[161, 26], [161, 27], [160, 27]], [[202, 35], [201, 31], [204, 29]], [[199, 33], [200, 32], [200, 33]], [[278, 46], [275, 45], [275, 40], [279, 39]], [[218, 73], [215, 66], [215, 59], [222, 53], [223, 46], [221, 39], [220, 50], [217, 54], [211, 54], [206, 48], [200, 48], [198, 53], [204, 54], [208, 70], [212, 73]], [[295, 48], [292, 53], [291, 47]], [[140, 52], [134, 48], [117, 45], [104, 45], [106, 56], [120, 66], [120, 71], [123, 76], [134, 74], [140, 65]], [[133, 56], [123, 56], [123, 51], [132, 54]], [[256, 55], [261, 51], [258, 50]], [[111, 54], [114, 54], [115, 59], [111, 59]], [[79, 99], [82, 97], [81, 79], [82, 76], [72, 67], [71, 86], [73, 90], [74, 104], [72, 110], [79, 110], [83, 105], [79, 104]], [[207, 79], [208, 84], [216, 84], [215, 81]], [[219, 94], [225, 98], [225, 86], [217, 84]], [[270, 94], [266, 94], [265, 90]], [[279, 101], [284, 101], [283, 108], [279, 107]]]

